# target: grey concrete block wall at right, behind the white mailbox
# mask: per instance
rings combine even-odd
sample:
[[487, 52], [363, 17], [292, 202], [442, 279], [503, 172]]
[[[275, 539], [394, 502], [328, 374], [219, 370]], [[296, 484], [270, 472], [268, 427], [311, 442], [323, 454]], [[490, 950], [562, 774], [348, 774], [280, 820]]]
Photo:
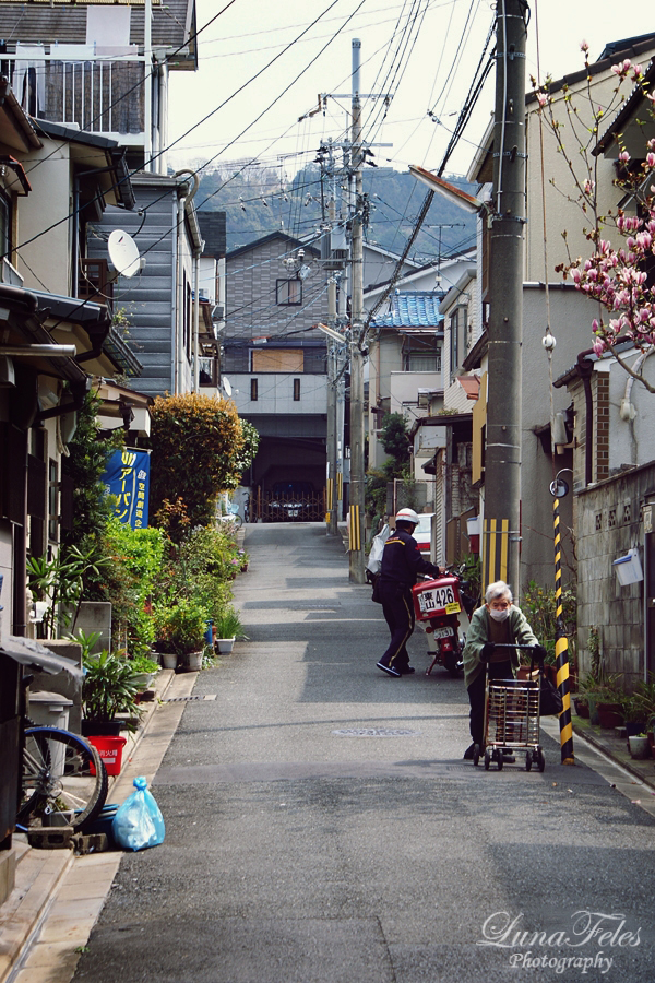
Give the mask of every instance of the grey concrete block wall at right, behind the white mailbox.
[[590, 630], [598, 630], [602, 665], [623, 673], [631, 690], [645, 675], [644, 582], [620, 587], [612, 561], [639, 547], [642, 568], [645, 493], [655, 462], [580, 492], [577, 506], [577, 642], [582, 675], [590, 671]]

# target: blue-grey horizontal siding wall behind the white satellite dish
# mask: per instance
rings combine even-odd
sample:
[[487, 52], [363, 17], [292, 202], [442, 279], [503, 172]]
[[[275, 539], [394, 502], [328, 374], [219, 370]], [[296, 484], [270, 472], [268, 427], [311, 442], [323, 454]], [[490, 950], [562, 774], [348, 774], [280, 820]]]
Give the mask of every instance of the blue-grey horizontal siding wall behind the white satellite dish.
[[[114, 288], [114, 309], [123, 310], [130, 321], [126, 341], [143, 366], [141, 376], [130, 379], [130, 388], [147, 395], [160, 395], [174, 390], [172, 319], [175, 317], [175, 189], [134, 186], [136, 209], [147, 208], [146, 220], [136, 209], [127, 212], [109, 208], [98, 232], [108, 235], [122, 228], [134, 236], [146, 265], [131, 280], [120, 279]], [[91, 236], [92, 256], [106, 256], [105, 241]]]

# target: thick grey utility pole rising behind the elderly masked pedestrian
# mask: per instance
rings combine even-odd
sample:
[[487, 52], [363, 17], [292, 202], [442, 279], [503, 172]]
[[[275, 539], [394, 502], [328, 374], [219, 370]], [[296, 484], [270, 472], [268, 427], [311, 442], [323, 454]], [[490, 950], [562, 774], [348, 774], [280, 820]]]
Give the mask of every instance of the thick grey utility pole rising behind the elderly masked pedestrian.
[[496, 43], [493, 208], [489, 237], [489, 387], [485, 459], [484, 587], [519, 588], [525, 26], [522, 0], [499, 0]]

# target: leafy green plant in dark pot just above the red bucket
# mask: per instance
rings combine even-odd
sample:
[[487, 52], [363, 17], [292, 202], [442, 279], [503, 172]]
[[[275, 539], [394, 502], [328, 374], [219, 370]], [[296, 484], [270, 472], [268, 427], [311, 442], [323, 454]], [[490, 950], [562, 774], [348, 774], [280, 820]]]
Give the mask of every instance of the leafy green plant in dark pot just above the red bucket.
[[[119, 713], [136, 715], [136, 694], [139, 692], [139, 673], [122, 652], [108, 652], [104, 649], [98, 655], [87, 654], [84, 658], [84, 683], [82, 700], [84, 720], [82, 733], [103, 736], [118, 735], [124, 726], [130, 729]], [[132, 725], [133, 729], [133, 725]]]

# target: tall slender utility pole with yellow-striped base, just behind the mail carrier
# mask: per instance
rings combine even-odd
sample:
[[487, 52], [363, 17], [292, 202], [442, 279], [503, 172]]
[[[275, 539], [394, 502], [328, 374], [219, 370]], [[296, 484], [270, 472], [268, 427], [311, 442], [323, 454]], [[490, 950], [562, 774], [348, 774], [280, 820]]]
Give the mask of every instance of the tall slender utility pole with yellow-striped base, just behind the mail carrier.
[[365, 583], [365, 472], [364, 472], [364, 236], [361, 178], [361, 103], [359, 99], [359, 55], [361, 42], [353, 39], [353, 131], [352, 157], [355, 183], [355, 211], [352, 233], [352, 295], [350, 295], [350, 487], [349, 487], [349, 549], [350, 581]]

